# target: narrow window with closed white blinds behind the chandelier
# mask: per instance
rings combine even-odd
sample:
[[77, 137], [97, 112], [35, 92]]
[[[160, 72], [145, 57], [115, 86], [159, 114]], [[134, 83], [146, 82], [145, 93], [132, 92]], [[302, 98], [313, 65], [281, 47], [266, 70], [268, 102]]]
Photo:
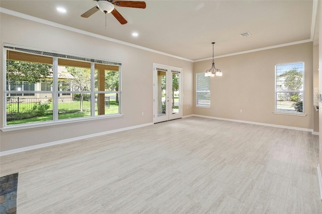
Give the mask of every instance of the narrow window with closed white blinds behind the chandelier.
[[210, 78], [196, 74], [196, 107], [210, 108]]

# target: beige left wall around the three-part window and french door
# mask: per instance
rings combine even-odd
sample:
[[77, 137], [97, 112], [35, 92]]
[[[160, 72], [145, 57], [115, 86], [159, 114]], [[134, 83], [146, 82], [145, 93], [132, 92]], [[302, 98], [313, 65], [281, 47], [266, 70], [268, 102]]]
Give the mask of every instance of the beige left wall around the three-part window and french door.
[[[97, 39], [33, 21], [1, 14], [1, 50], [3, 43], [72, 55], [120, 61], [122, 63], [122, 117], [87, 122], [0, 131], [0, 151], [95, 134], [152, 122], [153, 63], [183, 68], [183, 115], [193, 114], [193, 63], [145, 50]], [[1, 63], [2, 65], [3, 63]], [[0, 70], [3, 83], [3, 66]], [[3, 87], [0, 87], [0, 112], [3, 112]], [[141, 116], [144, 112], [144, 116]], [[3, 114], [0, 114], [3, 127]]]

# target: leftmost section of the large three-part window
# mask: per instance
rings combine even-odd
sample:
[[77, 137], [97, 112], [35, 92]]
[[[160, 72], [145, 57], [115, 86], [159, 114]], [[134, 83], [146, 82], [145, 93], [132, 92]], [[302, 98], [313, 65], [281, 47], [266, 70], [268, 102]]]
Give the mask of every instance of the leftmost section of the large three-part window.
[[[50, 58], [49, 58], [50, 59]], [[6, 125], [52, 121], [52, 105], [39, 84], [52, 74], [52, 59], [7, 51]]]

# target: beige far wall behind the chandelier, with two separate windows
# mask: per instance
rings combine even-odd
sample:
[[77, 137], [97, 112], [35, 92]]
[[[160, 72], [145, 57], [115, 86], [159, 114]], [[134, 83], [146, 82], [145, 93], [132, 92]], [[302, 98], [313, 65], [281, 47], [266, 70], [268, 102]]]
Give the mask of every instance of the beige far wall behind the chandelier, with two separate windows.
[[[221, 69], [223, 76], [211, 78], [211, 108], [194, 107], [194, 114], [312, 129], [312, 55], [312, 42], [309, 42], [215, 59], [216, 68]], [[275, 65], [300, 61], [305, 63], [306, 116], [274, 114]], [[194, 88], [195, 74], [210, 67], [211, 60], [194, 63]]]

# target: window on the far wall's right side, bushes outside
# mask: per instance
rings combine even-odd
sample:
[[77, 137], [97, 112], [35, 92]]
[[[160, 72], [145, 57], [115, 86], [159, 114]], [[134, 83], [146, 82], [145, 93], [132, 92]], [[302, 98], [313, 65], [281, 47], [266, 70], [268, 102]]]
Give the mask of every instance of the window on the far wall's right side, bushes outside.
[[304, 112], [304, 63], [275, 66], [275, 111]]

